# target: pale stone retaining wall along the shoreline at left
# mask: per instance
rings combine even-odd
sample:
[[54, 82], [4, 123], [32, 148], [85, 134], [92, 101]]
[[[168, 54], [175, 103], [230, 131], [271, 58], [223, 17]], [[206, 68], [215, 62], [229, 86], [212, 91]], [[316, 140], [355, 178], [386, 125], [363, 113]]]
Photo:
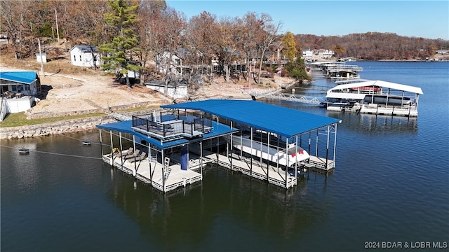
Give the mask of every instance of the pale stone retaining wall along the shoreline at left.
[[0, 139], [21, 139], [25, 137], [48, 136], [82, 130], [91, 130], [95, 125], [116, 122], [109, 116], [82, 118], [76, 120], [65, 120], [55, 123], [44, 123], [40, 125], [25, 125], [18, 127], [1, 127]]

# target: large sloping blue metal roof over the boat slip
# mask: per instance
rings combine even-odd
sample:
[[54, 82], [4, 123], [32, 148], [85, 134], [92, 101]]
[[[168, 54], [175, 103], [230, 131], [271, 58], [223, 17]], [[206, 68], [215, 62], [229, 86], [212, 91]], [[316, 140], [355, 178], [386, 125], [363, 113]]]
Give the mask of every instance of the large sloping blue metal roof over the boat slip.
[[204, 111], [283, 137], [297, 136], [340, 122], [340, 119], [251, 100], [210, 99], [164, 105], [161, 108]]

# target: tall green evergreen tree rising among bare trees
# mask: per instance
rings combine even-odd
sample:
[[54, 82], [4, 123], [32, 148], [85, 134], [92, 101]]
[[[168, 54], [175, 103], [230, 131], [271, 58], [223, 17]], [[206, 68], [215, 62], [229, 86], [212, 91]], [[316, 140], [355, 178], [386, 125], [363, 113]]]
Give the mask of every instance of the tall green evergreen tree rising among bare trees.
[[128, 71], [138, 72], [142, 68], [140, 64], [133, 62], [133, 55], [140, 52], [138, 48], [138, 36], [135, 34], [134, 25], [138, 22], [138, 4], [131, 5], [126, 0], [109, 0], [111, 12], [105, 13], [104, 19], [114, 38], [111, 43], [105, 43], [98, 50], [105, 55], [102, 57], [103, 71], [115, 71], [117, 77], [126, 77], [126, 85], [131, 87]]

